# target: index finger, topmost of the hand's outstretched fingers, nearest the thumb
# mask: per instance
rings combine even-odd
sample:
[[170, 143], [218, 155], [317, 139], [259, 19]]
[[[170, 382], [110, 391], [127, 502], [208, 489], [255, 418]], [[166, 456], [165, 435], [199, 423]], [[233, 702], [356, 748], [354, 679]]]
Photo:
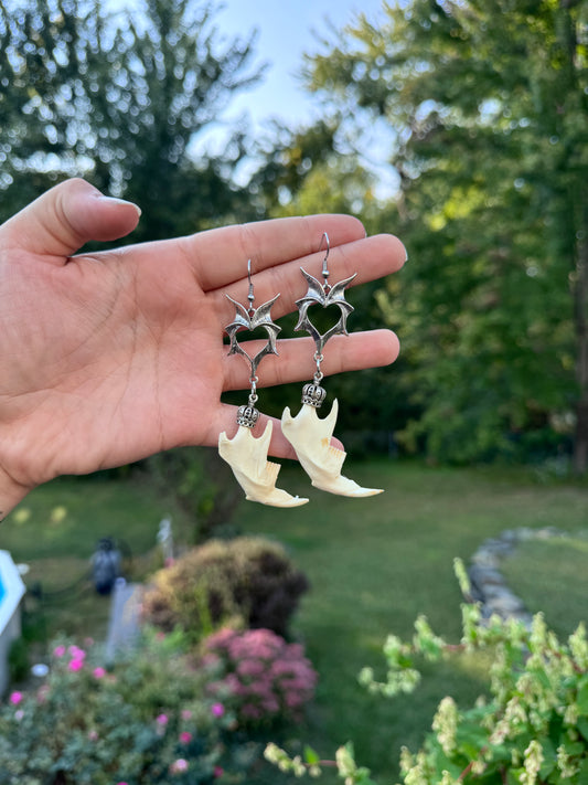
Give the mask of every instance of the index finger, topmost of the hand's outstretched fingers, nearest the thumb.
[[321, 243], [324, 248], [325, 232], [331, 248], [365, 236], [361, 221], [351, 215], [309, 215], [209, 230], [185, 237], [184, 250], [200, 285], [210, 291], [246, 277], [248, 259], [257, 274], [313, 254]]

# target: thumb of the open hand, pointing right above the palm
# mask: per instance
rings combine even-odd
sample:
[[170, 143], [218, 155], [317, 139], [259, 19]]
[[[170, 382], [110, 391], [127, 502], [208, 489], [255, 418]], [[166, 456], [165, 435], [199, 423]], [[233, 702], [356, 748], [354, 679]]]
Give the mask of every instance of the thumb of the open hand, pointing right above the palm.
[[129, 234], [140, 214], [132, 202], [104, 197], [85, 180], [73, 179], [17, 213], [2, 233], [8, 232], [12, 244], [63, 264], [89, 240], [117, 240]]

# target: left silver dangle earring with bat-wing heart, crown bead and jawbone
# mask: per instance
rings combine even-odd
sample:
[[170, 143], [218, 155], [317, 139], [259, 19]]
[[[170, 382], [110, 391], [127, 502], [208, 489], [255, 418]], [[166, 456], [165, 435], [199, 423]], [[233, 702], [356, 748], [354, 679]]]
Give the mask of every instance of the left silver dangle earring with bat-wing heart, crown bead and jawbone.
[[[235, 306], [236, 312], [231, 325], [225, 327], [225, 332], [231, 339], [228, 354], [242, 354], [249, 363], [249, 384], [252, 386], [248, 403], [239, 406], [237, 412], [238, 431], [232, 439], [227, 438], [225, 432], [218, 436], [218, 453], [233, 469], [237, 482], [245, 491], [246, 499], [260, 501], [263, 505], [271, 505], [274, 507], [299, 507], [300, 505], [306, 505], [308, 499], [290, 496], [281, 488], [276, 488], [280, 466], [267, 459], [271, 439], [271, 421], [268, 421], [266, 429], [259, 438], [255, 438], [252, 434], [252, 428], [259, 418], [259, 412], [255, 407], [258, 397], [257, 382], [259, 381], [257, 367], [266, 354], [278, 353], [276, 351], [276, 337], [281, 328], [271, 321], [270, 315], [271, 306], [278, 299], [279, 294], [264, 303], [259, 308], [253, 307], [255, 296], [250, 259], [247, 262], [247, 277], [249, 280], [247, 308], [226, 295], [227, 299]], [[266, 346], [252, 358], [237, 342], [237, 332], [239, 330], [254, 330], [256, 327], [263, 327], [267, 331], [268, 340]]]

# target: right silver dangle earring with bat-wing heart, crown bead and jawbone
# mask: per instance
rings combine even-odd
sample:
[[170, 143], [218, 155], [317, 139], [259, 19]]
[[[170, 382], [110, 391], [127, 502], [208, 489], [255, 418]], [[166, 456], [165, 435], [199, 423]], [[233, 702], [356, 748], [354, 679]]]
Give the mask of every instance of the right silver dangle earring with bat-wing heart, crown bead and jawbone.
[[[349, 335], [346, 320], [353, 310], [353, 306], [345, 300], [345, 288], [357, 275], [354, 273], [349, 278], [340, 280], [332, 286], [329, 284], [328, 259], [330, 245], [327, 232], [323, 233], [322, 237], [327, 241], [327, 253], [322, 262], [323, 283], [321, 284], [317, 278], [300, 267], [308, 283], [308, 291], [301, 299], [296, 301], [299, 319], [295, 328], [295, 330], [306, 330], [313, 339], [317, 348], [313, 357], [317, 363], [317, 371], [313, 381], [304, 384], [302, 389], [302, 409], [297, 416], [292, 417], [288, 407], [284, 410], [281, 429], [295, 448], [298, 460], [309, 475], [316, 488], [328, 490], [331, 494], [339, 494], [340, 496], [374, 496], [375, 494], [381, 494], [382, 489], [362, 488], [354, 480], [341, 475], [341, 468], [346, 454], [331, 446], [331, 436], [333, 435], [339, 411], [336, 400], [333, 401], [331, 412], [327, 417], [319, 420], [317, 414], [317, 410], [321, 406], [327, 395], [327, 391], [320, 385], [323, 379], [321, 363], [323, 361], [324, 344], [332, 336]], [[324, 335], [319, 332], [308, 316], [310, 306], [317, 304], [323, 308], [335, 305], [341, 310], [339, 321], [331, 327], [330, 330], [324, 332]]]

